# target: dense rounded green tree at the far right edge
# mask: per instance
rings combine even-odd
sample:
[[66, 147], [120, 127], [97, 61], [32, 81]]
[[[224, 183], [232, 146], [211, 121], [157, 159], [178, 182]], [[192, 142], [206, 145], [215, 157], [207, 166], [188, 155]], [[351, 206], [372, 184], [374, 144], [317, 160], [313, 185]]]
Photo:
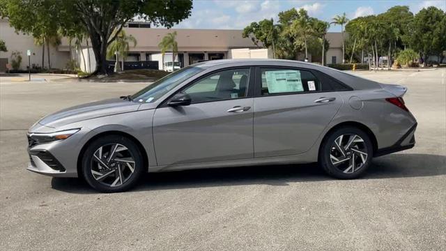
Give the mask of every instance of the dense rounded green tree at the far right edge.
[[445, 50], [446, 19], [443, 10], [433, 6], [423, 8], [415, 15], [410, 30], [410, 47], [423, 56], [424, 66], [427, 66], [429, 55], [438, 55]]

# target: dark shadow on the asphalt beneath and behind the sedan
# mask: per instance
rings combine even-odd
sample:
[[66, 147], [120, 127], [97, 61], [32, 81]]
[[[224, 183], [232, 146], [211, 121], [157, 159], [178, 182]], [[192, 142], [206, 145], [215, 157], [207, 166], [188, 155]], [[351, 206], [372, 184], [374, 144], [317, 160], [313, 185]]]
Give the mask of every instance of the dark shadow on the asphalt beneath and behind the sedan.
[[[446, 174], [446, 156], [392, 154], [374, 158], [362, 180], [410, 178]], [[332, 181], [316, 163], [196, 169], [144, 175], [132, 191], [203, 188], [226, 185], [289, 185], [294, 182]], [[81, 178], [52, 178], [52, 188], [63, 192], [95, 193]]]

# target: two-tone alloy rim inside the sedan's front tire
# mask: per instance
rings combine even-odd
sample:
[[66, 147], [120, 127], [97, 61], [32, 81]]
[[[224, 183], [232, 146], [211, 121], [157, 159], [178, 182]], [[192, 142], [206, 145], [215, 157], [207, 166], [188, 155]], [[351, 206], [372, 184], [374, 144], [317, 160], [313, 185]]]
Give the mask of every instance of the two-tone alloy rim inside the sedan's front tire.
[[100, 146], [91, 158], [91, 174], [102, 185], [123, 185], [134, 174], [135, 161], [123, 144]]

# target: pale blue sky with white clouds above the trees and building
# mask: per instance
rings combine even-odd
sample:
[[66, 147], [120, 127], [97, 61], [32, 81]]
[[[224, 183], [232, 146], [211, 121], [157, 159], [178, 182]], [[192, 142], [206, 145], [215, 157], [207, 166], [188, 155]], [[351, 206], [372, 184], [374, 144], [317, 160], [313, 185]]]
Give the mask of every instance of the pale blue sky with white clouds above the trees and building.
[[[409, 6], [413, 13], [428, 6], [436, 6], [446, 11], [446, 0], [194, 0], [192, 15], [173, 28], [243, 29], [251, 22], [265, 18], [277, 20], [279, 12], [293, 7], [304, 8], [311, 17], [331, 22], [332, 17], [342, 13], [353, 19], [383, 13], [397, 5]], [[332, 25], [329, 31], [341, 31], [341, 27]]]

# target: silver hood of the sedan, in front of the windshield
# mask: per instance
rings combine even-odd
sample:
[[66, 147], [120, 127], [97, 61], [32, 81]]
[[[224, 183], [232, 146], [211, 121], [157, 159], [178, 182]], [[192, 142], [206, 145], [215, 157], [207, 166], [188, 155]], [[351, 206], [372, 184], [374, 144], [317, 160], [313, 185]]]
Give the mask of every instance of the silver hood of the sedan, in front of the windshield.
[[77, 105], [63, 109], [54, 114], [49, 114], [38, 123], [43, 126], [57, 128], [65, 126], [69, 123], [84, 121], [86, 119], [94, 119], [101, 116], [109, 116], [114, 114], [121, 114], [125, 112], [137, 111], [139, 103], [121, 98], [113, 98], [108, 100], [101, 100], [97, 102], [90, 102], [84, 105]]

